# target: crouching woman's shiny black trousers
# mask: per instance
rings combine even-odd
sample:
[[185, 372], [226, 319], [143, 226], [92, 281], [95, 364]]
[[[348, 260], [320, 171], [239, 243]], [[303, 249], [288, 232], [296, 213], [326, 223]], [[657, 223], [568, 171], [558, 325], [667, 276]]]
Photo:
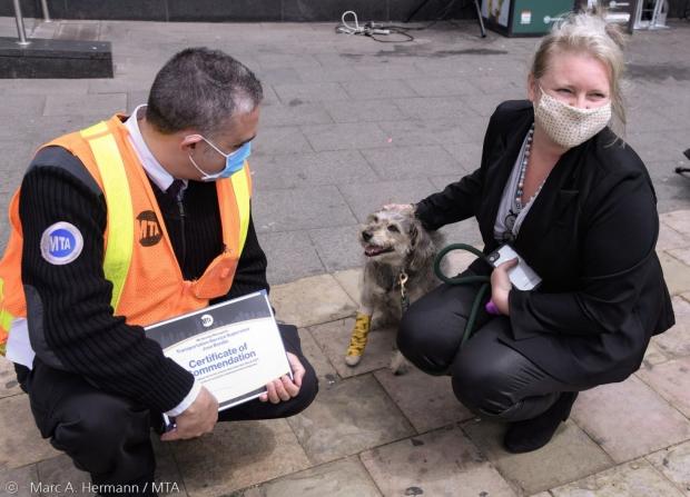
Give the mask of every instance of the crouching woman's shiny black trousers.
[[460, 349], [477, 285], [442, 285], [403, 316], [397, 346], [430, 375], [450, 375], [457, 399], [474, 412], [506, 421], [531, 419], [563, 391], [581, 388], [553, 378], [500, 341], [510, 337], [510, 319], [479, 312], [475, 332]]

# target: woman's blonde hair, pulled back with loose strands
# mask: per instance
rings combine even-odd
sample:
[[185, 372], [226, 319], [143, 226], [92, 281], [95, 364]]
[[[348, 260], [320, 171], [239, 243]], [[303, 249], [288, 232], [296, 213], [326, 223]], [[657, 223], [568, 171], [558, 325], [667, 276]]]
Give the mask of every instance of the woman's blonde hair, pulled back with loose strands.
[[565, 16], [541, 39], [530, 72], [535, 79], [549, 70], [552, 57], [560, 52], [588, 53], [601, 61], [610, 76], [611, 109], [614, 128], [624, 135], [625, 102], [622, 91], [625, 59], [625, 36], [617, 24], [607, 23], [601, 9]]

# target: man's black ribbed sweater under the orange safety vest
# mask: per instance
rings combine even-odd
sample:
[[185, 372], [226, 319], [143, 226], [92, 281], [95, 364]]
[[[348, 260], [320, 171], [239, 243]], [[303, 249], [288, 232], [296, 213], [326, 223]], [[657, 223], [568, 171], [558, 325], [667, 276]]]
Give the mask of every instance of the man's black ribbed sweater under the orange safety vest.
[[[106, 201], [102, 192], [95, 192], [83, 165], [83, 171], [75, 173], [75, 160], [62, 148], [42, 149], [21, 186], [21, 271], [29, 326], [41, 329], [49, 350], [43, 356], [37, 350], [38, 360], [165, 412], [185, 398], [194, 377], [167, 359], [141, 327], [114, 316], [112, 285], [102, 269]], [[67, 162], [72, 167], [65, 168]], [[181, 200], [184, 222], [176, 200], [154, 182], [151, 187], [185, 279], [200, 277], [223, 248], [215, 185], [189, 181]], [[77, 227], [83, 238], [79, 257], [61, 266], [47, 261], [40, 250], [43, 231], [59, 221]], [[268, 289], [266, 256], [249, 220], [233, 287], [227, 296], [214, 301], [260, 289]]]

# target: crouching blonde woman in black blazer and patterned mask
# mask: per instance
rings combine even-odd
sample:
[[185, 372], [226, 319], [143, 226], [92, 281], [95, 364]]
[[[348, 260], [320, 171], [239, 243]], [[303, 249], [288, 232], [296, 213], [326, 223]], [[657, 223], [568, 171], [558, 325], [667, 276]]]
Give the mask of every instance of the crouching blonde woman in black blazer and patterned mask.
[[491, 299], [462, 349], [474, 286], [433, 290], [398, 335], [417, 367], [452, 377], [460, 401], [510, 423], [513, 453], [545, 445], [579, 391], [628, 378], [651, 336], [674, 322], [651, 180], [609, 127], [612, 115], [624, 123], [621, 46], [594, 14], [554, 27], [534, 56], [529, 100], [492, 116], [481, 167], [415, 206], [428, 229], [476, 217], [484, 254], [510, 243], [542, 278], [519, 290], [515, 261], [477, 259], [466, 274], [491, 275]]

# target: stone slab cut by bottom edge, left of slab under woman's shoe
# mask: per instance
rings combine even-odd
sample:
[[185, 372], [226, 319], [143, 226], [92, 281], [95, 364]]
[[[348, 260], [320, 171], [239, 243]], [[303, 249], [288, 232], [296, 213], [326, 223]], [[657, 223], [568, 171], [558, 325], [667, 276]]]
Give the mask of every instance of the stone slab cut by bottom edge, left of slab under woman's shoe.
[[385, 496], [516, 495], [460, 428], [442, 429], [362, 454]]

